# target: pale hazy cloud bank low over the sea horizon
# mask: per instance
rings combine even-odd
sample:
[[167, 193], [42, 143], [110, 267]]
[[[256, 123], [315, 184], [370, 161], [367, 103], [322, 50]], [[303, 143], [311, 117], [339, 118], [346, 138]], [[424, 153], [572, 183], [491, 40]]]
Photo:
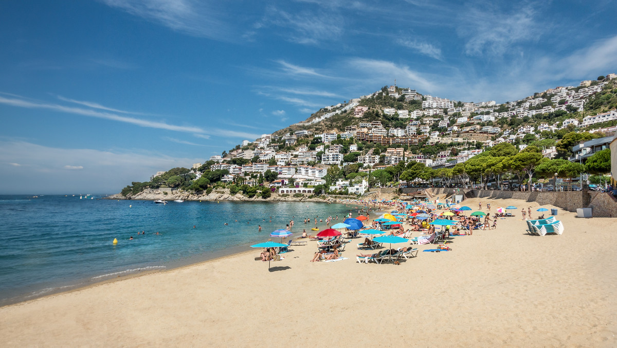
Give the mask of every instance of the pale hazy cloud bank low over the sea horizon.
[[[79, 165], [65, 167], [67, 159]], [[189, 167], [203, 160], [150, 151], [56, 148], [0, 139], [0, 163], [22, 164], [0, 166], [0, 193], [117, 193], [133, 181], [149, 181], [157, 171]]]

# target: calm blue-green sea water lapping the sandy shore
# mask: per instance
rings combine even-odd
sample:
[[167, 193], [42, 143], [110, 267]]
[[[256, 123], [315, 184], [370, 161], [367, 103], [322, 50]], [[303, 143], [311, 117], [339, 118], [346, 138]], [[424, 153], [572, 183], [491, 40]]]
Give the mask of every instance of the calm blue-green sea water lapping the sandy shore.
[[[299, 237], [315, 226], [304, 218], [338, 215], [342, 222], [350, 209], [316, 202], [162, 205], [98, 195], [0, 195], [0, 305], [250, 250], [248, 245], [264, 242], [294, 216], [292, 238]], [[318, 227], [326, 227], [319, 218]]]

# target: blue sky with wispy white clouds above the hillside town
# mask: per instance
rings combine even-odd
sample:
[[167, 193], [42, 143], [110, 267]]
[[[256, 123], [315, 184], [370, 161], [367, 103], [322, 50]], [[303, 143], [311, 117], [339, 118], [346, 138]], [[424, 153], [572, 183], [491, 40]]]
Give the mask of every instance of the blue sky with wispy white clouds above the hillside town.
[[114, 193], [400, 87], [503, 102], [617, 72], [613, 1], [2, 1], [0, 193]]

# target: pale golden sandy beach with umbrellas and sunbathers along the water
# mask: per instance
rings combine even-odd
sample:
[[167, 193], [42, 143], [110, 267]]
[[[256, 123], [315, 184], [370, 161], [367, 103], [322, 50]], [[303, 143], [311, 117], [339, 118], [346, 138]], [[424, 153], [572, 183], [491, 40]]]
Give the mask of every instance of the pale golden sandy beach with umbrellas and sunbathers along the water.
[[559, 209], [563, 235], [531, 236], [539, 206], [486, 203], [519, 209], [400, 265], [358, 264], [360, 239], [312, 263], [309, 242], [271, 271], [255, 249], [2, 307], [2, 346], [616, 346], [615, 220]]

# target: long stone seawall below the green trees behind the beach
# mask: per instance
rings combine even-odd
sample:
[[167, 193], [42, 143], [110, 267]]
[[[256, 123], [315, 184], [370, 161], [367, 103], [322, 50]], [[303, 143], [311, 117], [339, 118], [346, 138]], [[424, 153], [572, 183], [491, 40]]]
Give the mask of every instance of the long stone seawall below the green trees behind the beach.
[[[417, 192], [417, 188], [401, 189], [403, 193]], [[457, 189], [434, 188], [426, 189], [431, 195], [452, 195]], [[539, 205], [554, 205], [567, 211], [576, 212], [577, 208], [592, 208], [594, 218], [617, 218], [617, 201], [608, 193], [568, 191], [568, 192], [521, 192], [500, 190], [468, 190], [460, 189], [465, 199], [492, 198], [515, 199], [526, 202], [537, 202]]]

